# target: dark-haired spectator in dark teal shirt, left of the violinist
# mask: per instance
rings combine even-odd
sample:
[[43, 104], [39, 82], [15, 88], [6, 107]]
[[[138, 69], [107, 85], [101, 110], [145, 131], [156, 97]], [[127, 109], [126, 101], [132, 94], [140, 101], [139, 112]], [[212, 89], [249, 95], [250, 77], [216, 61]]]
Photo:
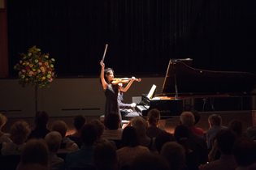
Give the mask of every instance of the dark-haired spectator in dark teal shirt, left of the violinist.
[[81, 130], [83, 145], [78, 151], [72, 151], [67, 154], [67, 170], [76, 168], [93, 168], [93, 143], [97, 138], [97, 127], [91, 123], [85, 124]]

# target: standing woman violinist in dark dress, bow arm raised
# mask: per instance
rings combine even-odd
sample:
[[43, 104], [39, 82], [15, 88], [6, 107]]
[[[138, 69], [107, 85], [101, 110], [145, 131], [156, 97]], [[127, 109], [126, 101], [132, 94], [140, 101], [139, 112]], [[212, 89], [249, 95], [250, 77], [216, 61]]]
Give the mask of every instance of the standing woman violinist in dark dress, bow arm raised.
[[102, 66], [100, 80], [106, 96], [105, 117], [108, 113], [118, 113], [120, 120], [122, 120], [117, 97], [119, 91], [128, 91], [135, 78], [132, 77], [131, 81], [126, 87], [119, 86], [119, 84], [114, 85], [111, 83], [114, 79], [114, 70], [112, 70], [111, 68], [105, 69], [105, 64], [103, 61], [100, 62], [100, 65]]

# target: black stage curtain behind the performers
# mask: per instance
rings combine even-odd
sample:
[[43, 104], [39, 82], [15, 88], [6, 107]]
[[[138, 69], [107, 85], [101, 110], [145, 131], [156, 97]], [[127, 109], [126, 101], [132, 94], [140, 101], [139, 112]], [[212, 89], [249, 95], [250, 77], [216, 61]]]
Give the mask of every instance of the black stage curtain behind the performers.
[[163, 76], [170, 58], [204, 70], [256, 73], [256, 2], [249, 0], [8, 0], [9, 75], [33, 45], [59, 77]]

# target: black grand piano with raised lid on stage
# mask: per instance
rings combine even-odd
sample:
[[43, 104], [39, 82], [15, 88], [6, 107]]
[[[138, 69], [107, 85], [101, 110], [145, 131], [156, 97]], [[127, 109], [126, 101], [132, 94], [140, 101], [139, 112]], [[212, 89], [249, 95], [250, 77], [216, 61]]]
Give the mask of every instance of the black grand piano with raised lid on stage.
[[171, 59], [161, 94], [141, 95], [137, 112], [144, 117], [157, 108], [161, 117], [184, 111], [250, 110], [255, 107], [256, 74], [238, 71], [200, 70], [193, 59]]

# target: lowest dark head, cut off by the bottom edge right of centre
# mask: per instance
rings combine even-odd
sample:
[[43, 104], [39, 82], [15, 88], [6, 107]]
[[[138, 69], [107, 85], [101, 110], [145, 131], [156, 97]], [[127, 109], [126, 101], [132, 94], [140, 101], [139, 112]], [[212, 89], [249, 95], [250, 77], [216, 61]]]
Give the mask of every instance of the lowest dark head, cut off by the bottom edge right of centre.
[[167, 162], [167, 159], [164, 159], [162, 155], [158, 154], [141, 154], [133, 161], [131, 170], [168, 170], [170, 165]]

